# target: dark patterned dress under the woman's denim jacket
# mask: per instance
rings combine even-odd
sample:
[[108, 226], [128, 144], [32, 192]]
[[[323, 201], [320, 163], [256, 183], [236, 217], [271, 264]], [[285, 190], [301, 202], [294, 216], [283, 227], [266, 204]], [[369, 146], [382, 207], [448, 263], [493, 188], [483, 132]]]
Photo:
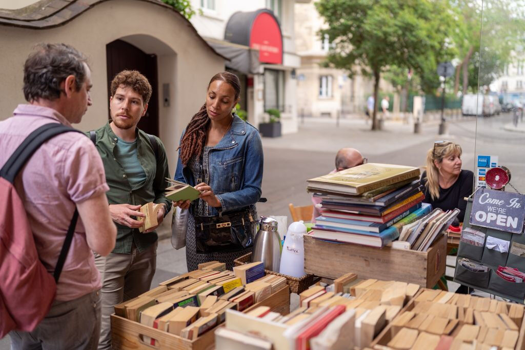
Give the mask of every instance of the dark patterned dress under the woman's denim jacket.
[[[213, 147], [204, 147], [204, 154], [202, 157], [203, 169], [209, 169], [208, 167], [208, 161], [209, 161], [209, 150], [211, 150]], [[200, 165], [199, 160], [196, 159], [196, 157], [193, 157], [190, 160], [190, 167], [193, 173], [193, 177], [197, 179], [199, 177], [200, 173]], [[209, 182], [209, 175], [207, 172], [204, 173], [204, 182]], [[197, 215], [210, 215], [209, 214], [209, 206], [208, 203], [205, 201], [198, 199], [197, 205], [196, 205], [196, 214]], [[253, 211], [251, 212], [251, 215], [253, 218], [257, 218], [257, 212]], [[226, 269], [232, 270], [233, 269], [233, 261], [239, 256], [246, 255], [250, 253], [253, 250], [253, 247], [245, 248], [237, 251], [232, 252], [217, 252], [217, 253], [197, 253], [197, 244], [195, 242], [195, 220], [193, 219], [193, 215], [188, 216], [188, 227], [186, 230], [186, 265], [188, 267], [188, 271], [197, 270], [198, 264], [208, 262], [208, 261], [219, 261], [226, 263]]]

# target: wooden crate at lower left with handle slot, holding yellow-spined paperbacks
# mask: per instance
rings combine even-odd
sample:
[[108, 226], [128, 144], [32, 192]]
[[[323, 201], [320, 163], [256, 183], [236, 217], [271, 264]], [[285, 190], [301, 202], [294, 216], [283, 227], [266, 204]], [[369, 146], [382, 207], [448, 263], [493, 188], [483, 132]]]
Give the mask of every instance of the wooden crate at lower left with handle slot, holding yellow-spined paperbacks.
[[[247, 308], [244, 312], [253, 310], [258, 306], [270, 306], [271, 311], [279, 312], [282, 315], [290, 313], [290, 289], [285, 286], [277, 292], [271, 294], [265, 300], [260, 301]], [[222, 325], [218, 325], [213, 330], [204, 333], [194, 341], [180, 337], [175, 334], [156, 330], [145, 326], [139, 322], [130, 321], [127, 318], [111, 315], [111, 339], [113, 349], [122, 350], [146, 350], [146, 349], [177, 349], [177, 350], [208, 350], [215, 346], [215, 330]], [[153, 346], [144, 343], [143, 336], [156, 339], [160, 346]]]

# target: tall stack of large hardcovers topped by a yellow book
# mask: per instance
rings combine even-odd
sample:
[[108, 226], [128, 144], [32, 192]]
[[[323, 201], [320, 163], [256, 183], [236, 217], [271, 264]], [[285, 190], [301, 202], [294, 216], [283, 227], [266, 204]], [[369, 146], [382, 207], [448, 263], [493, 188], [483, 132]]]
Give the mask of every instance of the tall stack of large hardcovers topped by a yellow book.
[[307, 191], [321, 199], [314, 238], [383, 247], [403, 225], [431, 207], [419, 183], [419, 168], [367, 163], [308, 180]]

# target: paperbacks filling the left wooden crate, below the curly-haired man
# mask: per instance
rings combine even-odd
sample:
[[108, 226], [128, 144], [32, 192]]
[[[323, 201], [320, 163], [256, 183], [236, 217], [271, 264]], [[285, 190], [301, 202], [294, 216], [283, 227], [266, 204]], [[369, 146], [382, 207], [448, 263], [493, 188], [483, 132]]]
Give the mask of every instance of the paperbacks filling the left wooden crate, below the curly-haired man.
[[[115, 306], [118, 316], [194, 340], [224, 322], [226, 310], [243, 311], [286, 287], [286, 278], [264, 273], [254, 262], [234, 271], [217, 261], [162, 282], [158, 287]], [[146, 344], [159, 346], [144, 336]]]

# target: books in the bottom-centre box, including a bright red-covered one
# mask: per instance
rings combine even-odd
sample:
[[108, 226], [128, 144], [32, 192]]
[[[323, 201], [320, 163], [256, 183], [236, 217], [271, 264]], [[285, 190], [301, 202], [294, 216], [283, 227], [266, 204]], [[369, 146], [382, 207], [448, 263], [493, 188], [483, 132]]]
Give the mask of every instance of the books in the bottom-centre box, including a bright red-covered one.
[[354, 349], [369, 346], [419, 291], [395, 281], [352, 281], [350, 293], [312, 286], [302, 292], [288, 315], [258, 307], [249, 313], [226, 312], [226, 327], [215, 331], [217, 350]]

